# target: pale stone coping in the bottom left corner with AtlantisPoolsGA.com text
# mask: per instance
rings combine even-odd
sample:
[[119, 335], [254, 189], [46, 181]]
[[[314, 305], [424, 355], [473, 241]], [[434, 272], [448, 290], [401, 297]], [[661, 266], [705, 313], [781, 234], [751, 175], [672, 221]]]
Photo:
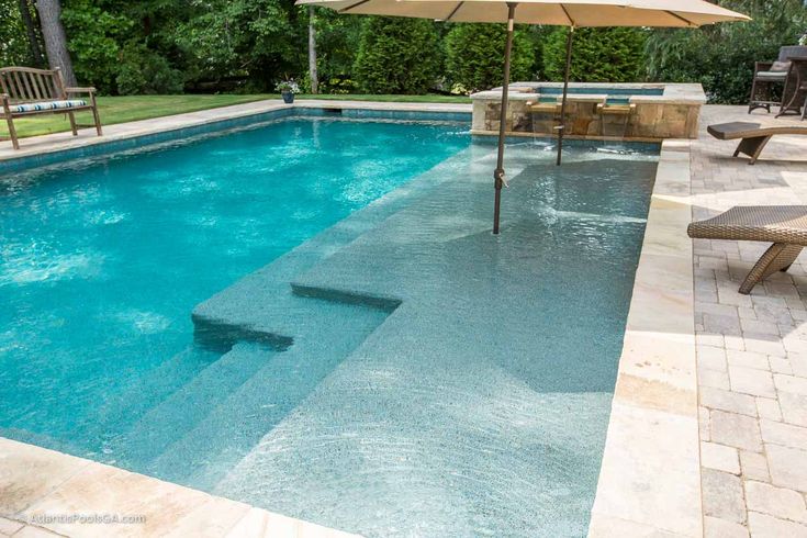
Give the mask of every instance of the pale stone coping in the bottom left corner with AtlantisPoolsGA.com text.
[[[70, 516], [132, 518], [132, 523], [60, 519]], [[10, 522], [34, 527], [20, 536], [45, 536], [41, 529], [48, 529], [72, 537], [357, 537], [0, 437], [0, 523], [10, 526]], [[0, 535], [4, 536], [2, 528]]]

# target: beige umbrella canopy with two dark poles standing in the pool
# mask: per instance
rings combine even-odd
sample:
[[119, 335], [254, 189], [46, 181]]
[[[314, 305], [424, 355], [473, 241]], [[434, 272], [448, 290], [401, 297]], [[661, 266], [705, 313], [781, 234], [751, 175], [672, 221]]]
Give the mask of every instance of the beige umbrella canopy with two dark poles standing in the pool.
[[504, 139], [509, 86], [513, 26], [515, 23], [570, 26], [567, 65], [558, 127], [558, 165], [563, 147], [565, 104], [571, 66], [572, 36], [581, 26], [697, 27], [724, 21], [748, 21], [742, 13], [704, 0], [298, 0], [300, 5], [321, 5], [338, 13], [357, 15], [413, 16], [450, 22], [506, 22], [504, 85], [498, 127], [498, 160], [493, 172], [495, 201], [493, 233], [498, 234], [498, 215], [504, 181]]

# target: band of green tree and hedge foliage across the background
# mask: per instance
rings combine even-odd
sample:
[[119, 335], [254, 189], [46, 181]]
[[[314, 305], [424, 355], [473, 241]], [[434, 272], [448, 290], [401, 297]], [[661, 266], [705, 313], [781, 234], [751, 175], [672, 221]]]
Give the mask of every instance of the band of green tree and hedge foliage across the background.
[[[81, 85], [102, 93], [306, 88], [307, 8], [293, 0], [60, 0]], [[703, 29], [579, 29], [572, 79], [700, 82], [713, 102], [748, 99], [753, 63], [807, 32], [803, 0], [718, 0], [749, 23]], [[26, 24], [21, 11], [31, 11]], [[34, 0], [0, 0], [0, 65], [42, 65]], [[321, 91], [467, 92], [500, 86], [503, 24], [344, 15], [315, 8]], [[518, 26], [512, 78], [560, 80], [567, 30]], [[38, 59], [37, 59], [38, 56]]]

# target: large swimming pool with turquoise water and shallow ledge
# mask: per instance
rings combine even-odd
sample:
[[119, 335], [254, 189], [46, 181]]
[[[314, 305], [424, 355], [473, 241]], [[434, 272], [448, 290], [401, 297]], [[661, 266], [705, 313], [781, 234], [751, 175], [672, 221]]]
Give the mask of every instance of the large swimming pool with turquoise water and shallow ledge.
[[584, 535], [655, 156], [512, 143], [494, 238], [466, 128], [5, 179], [2, 435], [367, 536]]

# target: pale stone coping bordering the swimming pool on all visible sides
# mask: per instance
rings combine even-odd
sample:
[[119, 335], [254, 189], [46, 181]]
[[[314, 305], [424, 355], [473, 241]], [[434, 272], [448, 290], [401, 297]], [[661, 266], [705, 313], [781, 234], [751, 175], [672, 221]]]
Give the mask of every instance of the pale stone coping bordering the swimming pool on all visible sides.
[[[58, 133], [29, 138], [31, 146], [23, 145], [20, 152], [0, 149], [0, 161], [296, 107], [414, 112], [471, 109], [464, 104], [312, 100], [285, 105], [260, 101], [112, 125], [104, 137], [85, 131], [78, 137]], [[665, 141], [636, 272], [590, 536], [703, 534], [692, 244], [685, 234], [691, 215], [690, 177], [690, 143]], [[155, 530], [149, 527], [148, 533], [157, 535], [226, 536], [238, 530], [232, 536], [355, 536], [4, 438], [0, 438], [0, 516], [30, 515], [36, 509], [52, 515], [149, 511], [153, 517], [147, 522]], [[105, 528], [42, 526], [81, 536], [102, 536]], [[131, 527], [122, 533], [126, 529]], [[281, 529], [288, 529], [287, 534], [277, 534]], [[142, 535], [141, 530], [132, 531]]]

